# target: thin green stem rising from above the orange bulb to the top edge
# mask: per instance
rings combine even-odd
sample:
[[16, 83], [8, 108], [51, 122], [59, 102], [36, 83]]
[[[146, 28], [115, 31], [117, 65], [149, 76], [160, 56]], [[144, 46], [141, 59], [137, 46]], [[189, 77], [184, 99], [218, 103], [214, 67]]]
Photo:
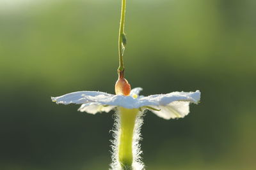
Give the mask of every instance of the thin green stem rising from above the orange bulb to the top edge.
[[118, 71], [124, 70], [123, 55], [124, 55], [124, 46], [126, 44], [126, 38], [124, 33], [125, 6], [126, 6], [126, 0], [122, 0], [122, 10], [121, 10], [121, 19], [120, 19], [119, 36], [118, 36], [118, 54], [119, 54]]

